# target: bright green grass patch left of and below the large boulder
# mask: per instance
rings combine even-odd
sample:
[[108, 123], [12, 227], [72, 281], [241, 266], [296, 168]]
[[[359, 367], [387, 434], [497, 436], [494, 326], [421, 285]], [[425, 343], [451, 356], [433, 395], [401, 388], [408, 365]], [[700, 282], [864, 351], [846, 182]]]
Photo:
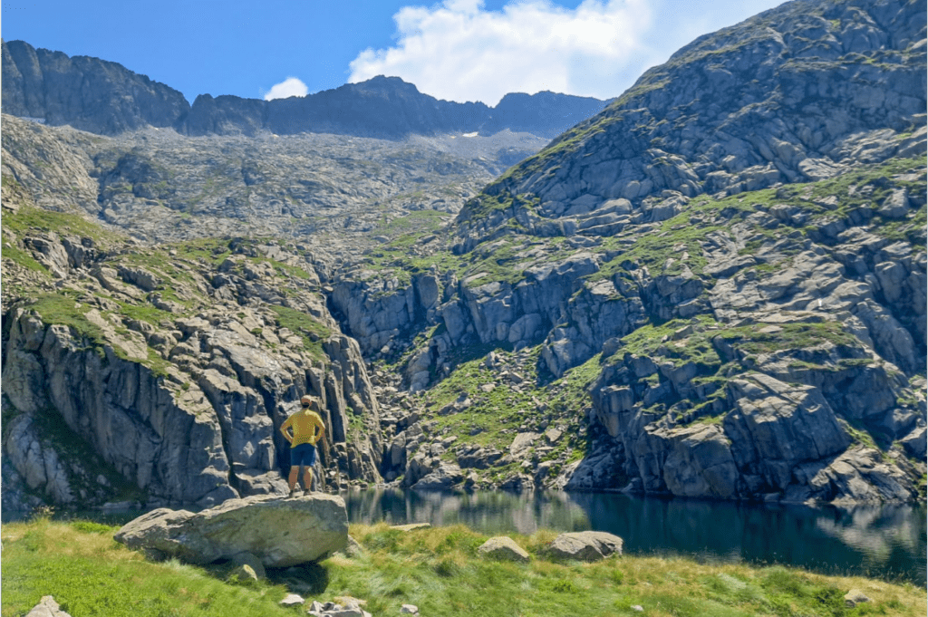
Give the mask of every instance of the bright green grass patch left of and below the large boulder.
[[39, 519], [3, 526], [3, 617], [53, 595], [71, 615], [292, 615], [283, 587], [232, 585], [222, 569], [151, 563], [112, 540], [117, 528]]

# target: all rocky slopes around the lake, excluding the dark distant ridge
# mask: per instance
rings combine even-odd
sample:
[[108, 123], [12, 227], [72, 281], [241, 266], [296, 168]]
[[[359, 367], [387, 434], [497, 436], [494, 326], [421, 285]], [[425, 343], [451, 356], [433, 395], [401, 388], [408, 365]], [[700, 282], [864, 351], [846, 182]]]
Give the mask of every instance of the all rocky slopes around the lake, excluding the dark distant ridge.
[[4, 498], [280, 490], [303, 392], [329, 486], [923, 498], [925, 14], [787, 3], [537, 154], [5, 115]]

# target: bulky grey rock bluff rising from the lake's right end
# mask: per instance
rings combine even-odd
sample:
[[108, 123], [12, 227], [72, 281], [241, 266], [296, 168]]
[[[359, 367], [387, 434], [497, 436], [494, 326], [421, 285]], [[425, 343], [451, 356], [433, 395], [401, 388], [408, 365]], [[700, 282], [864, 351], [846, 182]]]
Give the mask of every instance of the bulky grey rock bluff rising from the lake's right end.
[[[786, 328], [818, 330], [815, 348], [784, 341]], [[860, 342], [830, 322], [786, 328], [758, 328], [780, 338], [782, 350], [780, 358], [760, 363], [741, 355], [745, 341], [736, 341], [737, 328], [688, 326], [677, 331], [676, 353], [653, 341], [647, 355], [619, 354], [592, 386], [595, 421], [614, 440], [615, 452], [594, 466], [599, 471], [577, 469], [568, 486], [620, 481], [649, 493], [787, 501], [912, 498], [916, 469], [882, 464], [872, 447], [848, 447], [851, 431], [896, 439], [919, 430], [923, 404], [908, 380], [894, 378], [895, 368], [870, 359]], [[718, 355], [696, 352], [699, 341]], [[688, 359], [687, 350], [699, 360]], [[825, 364], [829, 356], [833, 366]], [[806, 360], [798, 369], [801, 357], [822, 364]], [[731, 377], [718, 379], [715, 371], [725, 361], [734, 363], [727, 365]], [[795, 368], [780, 372], [786, 366]]]

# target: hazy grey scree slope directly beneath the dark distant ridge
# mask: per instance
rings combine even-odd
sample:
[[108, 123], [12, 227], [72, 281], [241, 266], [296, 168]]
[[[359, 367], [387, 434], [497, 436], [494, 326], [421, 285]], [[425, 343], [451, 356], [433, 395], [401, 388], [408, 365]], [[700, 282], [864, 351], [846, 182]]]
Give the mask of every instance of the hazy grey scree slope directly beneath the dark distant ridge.
[[5, 115], [3, 148], [5, 173], [37, 205], [85, 212], [135, 238], [325, 234], [333, 251], [350, 253], [395, 216], [458, 212], [511, 159], [544, 144], [508, 131], [390, 141], [148, 128], [110, 137]]

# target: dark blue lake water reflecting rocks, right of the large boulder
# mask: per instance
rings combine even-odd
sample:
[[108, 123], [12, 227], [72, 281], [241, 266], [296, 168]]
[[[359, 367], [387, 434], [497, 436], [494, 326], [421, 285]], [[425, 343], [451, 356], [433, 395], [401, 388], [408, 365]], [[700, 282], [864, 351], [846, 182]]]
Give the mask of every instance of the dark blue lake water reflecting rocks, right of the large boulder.
[[369, 489], [342, 496], [351, 522], [463, 523], [481, 533], [593, 530], [621, 536], [626, 554], [926, 581], [924, 504], [809, 508], [556, 491], [451, 495]]

